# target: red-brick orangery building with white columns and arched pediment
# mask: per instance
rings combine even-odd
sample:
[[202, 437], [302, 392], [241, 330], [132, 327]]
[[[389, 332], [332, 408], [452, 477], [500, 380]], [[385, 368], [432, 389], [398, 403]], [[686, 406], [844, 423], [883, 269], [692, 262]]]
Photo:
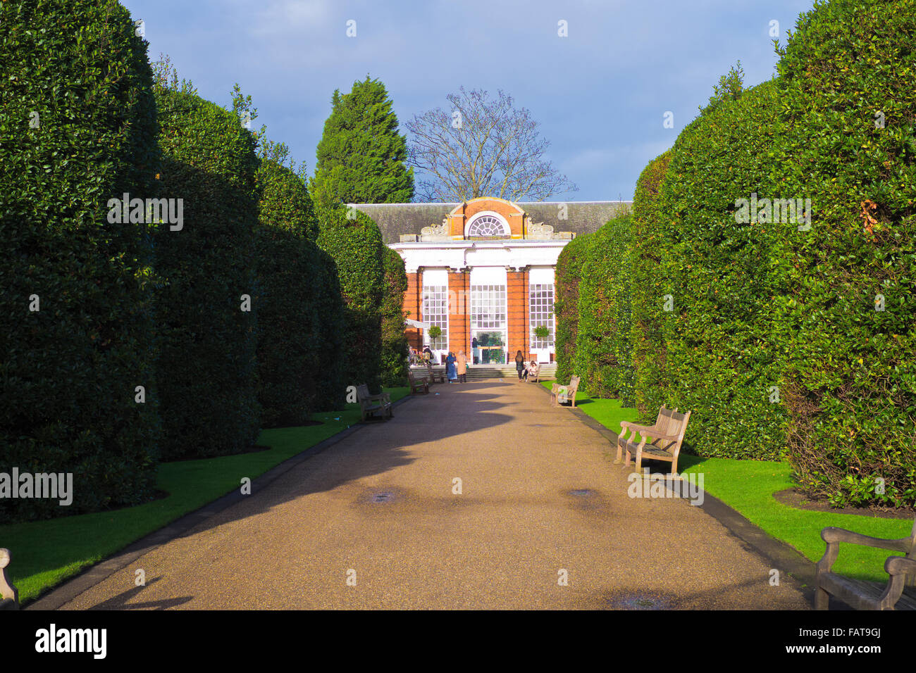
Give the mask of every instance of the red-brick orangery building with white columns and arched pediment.
[[428, 346], [437, 362], [463, 351], [474, 364], [506, 364], [517, 351], [553, 361], [557, 258], [575, 236], [593, 233], [631, 204], [483, 197], [352, 205], [404, 259], [410, 346]]

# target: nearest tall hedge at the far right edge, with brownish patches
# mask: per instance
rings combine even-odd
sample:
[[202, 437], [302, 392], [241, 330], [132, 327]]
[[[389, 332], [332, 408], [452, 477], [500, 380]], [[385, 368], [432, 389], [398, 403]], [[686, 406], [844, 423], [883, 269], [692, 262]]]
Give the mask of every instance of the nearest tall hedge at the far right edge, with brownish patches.
[[782, 190], [813, 210], [779, 255], [788, 446], [837, 504], [916, 504], [914, 54], [916, 2], [834, 0], [778, 65]]

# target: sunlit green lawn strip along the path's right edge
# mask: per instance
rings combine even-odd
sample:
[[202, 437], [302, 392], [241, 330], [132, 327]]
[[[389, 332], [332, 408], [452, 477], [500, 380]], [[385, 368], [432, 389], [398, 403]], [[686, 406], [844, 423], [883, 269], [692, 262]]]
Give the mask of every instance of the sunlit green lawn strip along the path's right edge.
[[[553, 382], [543, 385], [551, 387]], [[576, 394], [576, 407], [605, 428], [620, 431], [620, 421], [636, 419], [636, 409], [621, 408], [620, 400], [590, 399], [583, 391]], [[649, 463], [650, 466], [662, 463]], [[736, 461], [727, 458], [698, 458], [681, 454], [682, 474], [703, 473], [703, 490], [745, 516], [772, 537], [789, 543], [803, 556], [816, 561], [823, 556], [821, 529], [837, 526], [872, 537], [907, 537], [912, 519], [884, 519], [870, 515], [814, 512], [782, 505], [773, 494], [795, 484], [785, 462]], [[887, 581], [884, 560], [891, 552], [883, 549], [841, 545], [834, 565], [837, 572], [863, 580]]]

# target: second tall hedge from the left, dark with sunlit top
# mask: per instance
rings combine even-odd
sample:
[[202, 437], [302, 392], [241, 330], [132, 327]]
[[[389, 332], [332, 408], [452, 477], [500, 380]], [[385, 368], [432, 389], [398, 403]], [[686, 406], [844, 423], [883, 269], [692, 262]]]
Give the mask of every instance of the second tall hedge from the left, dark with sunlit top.
[[234, 114], [191, 93], [157, 87], [157, 103], [162, 196], [184, 204], [183, 228], [156, 237], [167, 283], [158, 296], [164, 457], [235, 453], [254, 443], [260, 416], [255, 142]]

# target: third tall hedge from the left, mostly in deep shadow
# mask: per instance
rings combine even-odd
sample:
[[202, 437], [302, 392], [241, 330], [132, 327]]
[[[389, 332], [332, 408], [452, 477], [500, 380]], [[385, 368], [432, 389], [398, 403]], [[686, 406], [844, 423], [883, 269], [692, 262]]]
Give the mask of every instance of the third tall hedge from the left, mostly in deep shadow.
[[[302, 425], [328, 385], [322, 322], [339, 311], [329, 292], [329, 269], [309, 240], [313, 226], [309, 192], [292, 170], [263, 159], [257, 170], [257, 372], [261, 425]], [[340, 300], [339, 292], [337, 294]], [[330, 315], [327, 311], [330, 311]]]

